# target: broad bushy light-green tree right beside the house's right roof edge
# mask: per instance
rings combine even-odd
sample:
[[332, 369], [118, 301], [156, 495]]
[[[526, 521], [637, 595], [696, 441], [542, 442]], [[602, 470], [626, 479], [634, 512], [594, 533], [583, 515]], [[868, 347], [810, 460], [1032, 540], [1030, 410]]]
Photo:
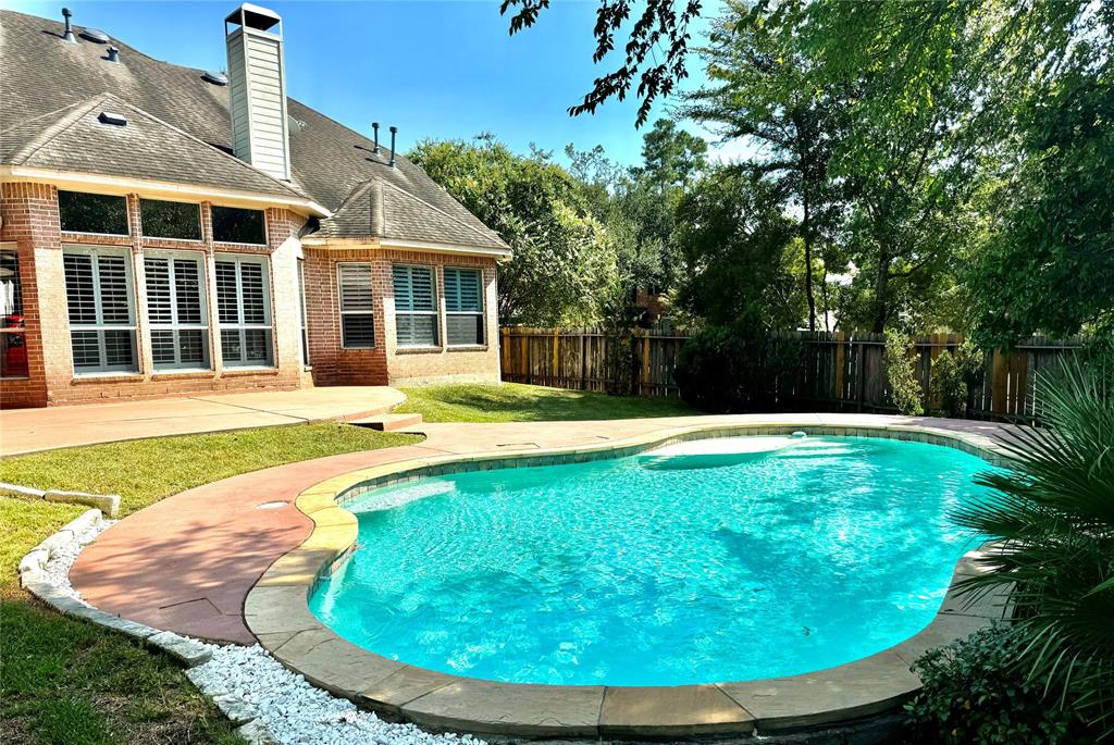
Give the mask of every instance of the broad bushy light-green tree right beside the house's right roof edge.
[[548, 154], [512, 154], [491, 135], [423, 140], [408, 157], [506, 241], [499, 316], [507, 323], [594, 321], [616, 281], [616, 255], [583, 186]]

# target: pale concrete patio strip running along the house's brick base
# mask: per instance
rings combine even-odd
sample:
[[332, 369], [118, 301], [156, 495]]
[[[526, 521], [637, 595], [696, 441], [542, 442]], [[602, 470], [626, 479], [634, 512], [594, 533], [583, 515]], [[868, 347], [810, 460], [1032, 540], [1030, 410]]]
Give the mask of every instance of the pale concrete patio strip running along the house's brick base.
[[212, 393], [179, 399], [0, 411], [0, 455], [170, 434], [242, 430], [389, 411], [405, 396], [385, 385]]

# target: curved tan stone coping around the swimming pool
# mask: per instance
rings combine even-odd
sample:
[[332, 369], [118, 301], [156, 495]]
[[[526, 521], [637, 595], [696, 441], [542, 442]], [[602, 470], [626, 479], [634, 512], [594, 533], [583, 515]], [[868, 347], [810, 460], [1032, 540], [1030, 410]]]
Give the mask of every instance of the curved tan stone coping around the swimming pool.
[[957, 563], [934, 620], [909, 639], [870, 657], [815, 673], [671, 687], [550, 686], [480, 680], [388, 659], [358, 647], [309, 608], [316, 584], [355, 548], [358, 522], [344, 504], [372, 489], [422, 477], [622, 458], [700, 438], [788, 434], [878, 437], [957, 448], [991, 464], [1003, 449], [989, 438], [905, 424], [818, 424], [815, 420], [693, 424], [607, 443], [526, 452], [419, 458], [336, 476], [301, 492], [297, 508], [313, 520], [306, 540], [278, 558], [248, 592], [244, 620], [286, 667], [335, 695], [381, 715], [430, 729], [528, 738], [687, 738], [778, 735], [854, 726], [900, 707], [920, 688], [909, 666], [924, 651], [1005, 617], [1005, 597], [974, 605], [956, 580], [977, 571], [979, 551]]

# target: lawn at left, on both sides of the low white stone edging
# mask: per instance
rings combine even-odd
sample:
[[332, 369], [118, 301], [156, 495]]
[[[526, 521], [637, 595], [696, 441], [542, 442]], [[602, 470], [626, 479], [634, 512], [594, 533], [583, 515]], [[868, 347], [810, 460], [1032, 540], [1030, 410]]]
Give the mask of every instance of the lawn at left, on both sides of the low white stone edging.
[[[0, 481], [118, 493], [128, 514], [237, 473], [417, 441], [332, 423], [133, 440], [6, 459]], [[0, 743], [241, 743], [172, 659], [19, 589], [19, 559], [82, 511], [0, 496]]]

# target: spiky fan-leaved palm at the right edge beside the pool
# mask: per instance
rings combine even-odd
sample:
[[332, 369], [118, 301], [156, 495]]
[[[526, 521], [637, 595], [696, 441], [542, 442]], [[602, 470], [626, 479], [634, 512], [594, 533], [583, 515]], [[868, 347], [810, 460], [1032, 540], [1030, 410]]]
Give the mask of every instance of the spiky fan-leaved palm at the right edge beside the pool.
[[[1102, 370], [1102, 369], [1100, 369]], [[994, 540], [960, 590], [1007, 586], [1017, 664], [1055, 705], [1114, 735], [1114, 395], [1105, 373], [1066, 363], [1042, 378], [1044, 429], [1007, 435], [990, 494], [954, 514]]]

